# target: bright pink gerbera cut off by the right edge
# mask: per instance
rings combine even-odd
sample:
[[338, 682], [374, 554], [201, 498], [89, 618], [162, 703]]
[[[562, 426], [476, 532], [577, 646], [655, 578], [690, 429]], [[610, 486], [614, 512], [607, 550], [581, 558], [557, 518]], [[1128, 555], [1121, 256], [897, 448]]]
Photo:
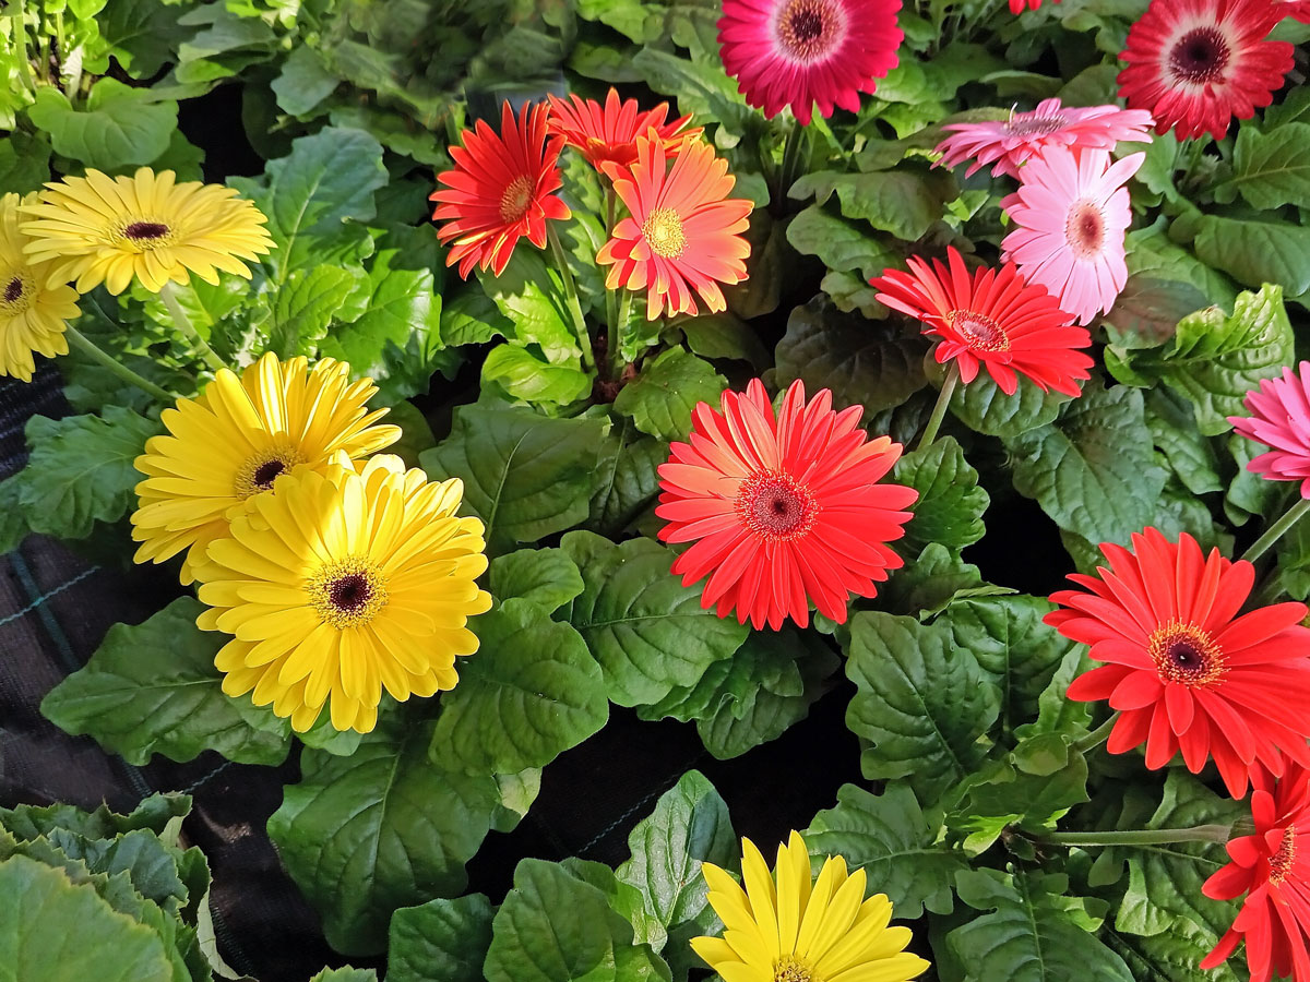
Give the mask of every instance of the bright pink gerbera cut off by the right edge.
[[1246, 394], [1250, 416], [1227, 419], [1242, 436], [1269, 448], [1247, 470], [1265, 481], [1300, 481], [1301, 496], [1310, 498], [1310, 361], [1297, 368], [1300, 377], [1284, 368], [1281, 378], [1265, 378]]

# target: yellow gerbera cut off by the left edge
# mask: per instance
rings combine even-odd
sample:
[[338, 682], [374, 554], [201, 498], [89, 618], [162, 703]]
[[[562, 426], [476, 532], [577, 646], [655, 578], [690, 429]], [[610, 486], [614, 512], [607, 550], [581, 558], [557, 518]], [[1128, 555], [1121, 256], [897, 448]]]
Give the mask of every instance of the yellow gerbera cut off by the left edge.
[[24, 255], [28, 237], [18, 230], [21, 203], [16, 194], [0, 196], [0, 374], [30, 382], [37, 368], [33, 355], [67, 355], [64, 329], [81, 312], [72, 287], [46, 285], [50, 263]]

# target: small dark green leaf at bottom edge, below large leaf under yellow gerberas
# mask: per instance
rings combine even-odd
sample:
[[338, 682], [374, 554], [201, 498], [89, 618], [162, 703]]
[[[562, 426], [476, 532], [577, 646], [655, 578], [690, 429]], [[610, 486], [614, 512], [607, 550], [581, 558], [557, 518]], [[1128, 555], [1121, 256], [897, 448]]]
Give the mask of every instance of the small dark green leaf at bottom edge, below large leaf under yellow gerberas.
[[482, 982], [491, 905], [481, 893], [402, 907], [392, 917], [386, 982]]

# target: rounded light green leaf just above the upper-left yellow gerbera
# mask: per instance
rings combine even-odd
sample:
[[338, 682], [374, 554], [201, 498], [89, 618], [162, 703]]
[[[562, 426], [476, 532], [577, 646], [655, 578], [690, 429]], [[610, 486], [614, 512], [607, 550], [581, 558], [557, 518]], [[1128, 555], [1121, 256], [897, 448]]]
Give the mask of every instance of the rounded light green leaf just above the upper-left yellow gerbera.
[[56, 153], [117, 170], [149, 164], [168, 149], [177, 130], [177, 102], [106, 77], [92, 86], [84, 109], [73, 109], [55, 86], [42, 85], [28, 117], [50, 134]]

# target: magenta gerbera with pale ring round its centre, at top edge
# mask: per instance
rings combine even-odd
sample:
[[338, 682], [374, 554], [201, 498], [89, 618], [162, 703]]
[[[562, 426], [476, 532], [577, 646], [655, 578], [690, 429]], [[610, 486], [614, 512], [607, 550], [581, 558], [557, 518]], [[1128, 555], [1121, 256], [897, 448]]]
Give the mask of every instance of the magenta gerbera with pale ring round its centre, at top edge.
[[808, 126], [833, 106], [859, 111], [859, 93], [896, 67], [905, 37], [900, 0], [723, 0], [719, 54], [745, 101], [769, 119], [791, 106]]

